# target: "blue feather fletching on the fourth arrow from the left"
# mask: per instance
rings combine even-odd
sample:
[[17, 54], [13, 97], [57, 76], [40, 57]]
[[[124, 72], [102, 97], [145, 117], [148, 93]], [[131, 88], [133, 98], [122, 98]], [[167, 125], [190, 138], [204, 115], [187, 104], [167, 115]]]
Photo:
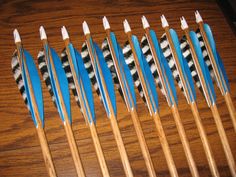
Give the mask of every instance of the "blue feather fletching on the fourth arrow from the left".
[[[90, 44], [91, 44], [91, 47], [92, 47], [93, 55], [95, 55], [95, 52], [97, 54], [97, 57], [94, 57], [95, 58], [95, 63], [94, 63], [95, 68], [94, 68], [94, 70], [95, 70], [95, 73], [96, 73], [96, 79], [97, 79], [98, 87], [99, 87], [99, 90], [101, 92], [103, 105], [105, 107], [107, 116], [110, 117], [110, 114], [111, 114], [112, 111], [109, 109], [108, 100], [107, 100], [107, 99], [110, 99], [110, 102], [112, 104], [113, 112], [116, 116], [116, 114], [117, 114], [117, 111], [116, 111], [116, 97], [115, 97], [115, 90], [114, 90], [114, 87], [113, 87], [111, 72], [110, 72], [110, 70], [109, 70], [109, 68], [108, 68], [108, 66], [105, 62], [105, 59], [103, 57], [103, 53], [102, 53], [101, 49], [98, 47], [98, 45], [96, 43], [94, 43], [92, 41], [92, 39], [90, 39]], [[96, 60], [96, 58], [98, 59], [98, 61]], [[102, 73], [99, 72], [99, 67], [100, 67]], [[102, 84], [102, 78], [104, 79], [105, 86], [107, 88], [107, 92], [108, 92], [107, 97], [106, 97], [106, 94], [105, 94], [104, 85]]]

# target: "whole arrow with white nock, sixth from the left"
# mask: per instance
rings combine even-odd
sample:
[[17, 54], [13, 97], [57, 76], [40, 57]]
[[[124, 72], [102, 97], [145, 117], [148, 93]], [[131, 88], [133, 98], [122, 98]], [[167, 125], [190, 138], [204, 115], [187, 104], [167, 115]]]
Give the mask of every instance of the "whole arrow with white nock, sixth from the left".
[[136, 79], [135, 82], [138, 83], [136, 84], [136, 86], [138, 86], [139, 83], [141, 85], [141, 89], [139, 89], [139, 91], [141, 91], [141, 93], [144, 95], [143, 98], [145, 98], [149, 113], [154, 119], [157, 128], [157, 133], [158, 136], [160, 137], [160, 143], [164, 151], [171, 176], [178, 176], [170, 152], [170, 148], [160, 121], [160, 116], [158, 114], [158, 97], [152, 73], [150, 71], [148, 63], [144, 58], [137, 37], [132, 35], [131, 33], [131, 28], [129, 26], [128, 21], [125, 20], [123, 24], [125, 33], [127, 34], [128, 37], [128, 45], [126, 45], [123, 50], [123, 53], [125, 53], [124, 56], [127, 60], [126, 63], [129, 63], [131, 73], [132, 72], [133, 74], [137, 73], [137, 75], [133, 75], [133, 78], [134, 76], [138, 78], [138, 80], [134, 78], [134, 80]]

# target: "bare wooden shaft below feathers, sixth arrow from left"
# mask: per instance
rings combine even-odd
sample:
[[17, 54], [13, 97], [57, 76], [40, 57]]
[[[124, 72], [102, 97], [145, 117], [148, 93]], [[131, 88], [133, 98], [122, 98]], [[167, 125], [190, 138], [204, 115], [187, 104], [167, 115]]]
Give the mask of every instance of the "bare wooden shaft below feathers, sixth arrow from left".
[[167, 142], [166, 135], [165, 135], [165, 132], [163, 130], [160, 117], [156, 113], [153, 116], [153, 119], [154, 119], [154, 122], [155, 122], [155, 125], [156, 125], [157, 134], [158, 134], [159, 139], [160, 139], [161, 147], [162, 147], [162, 150], [163, 150], [165, 158], [166, 158], [167, 166], [168, 166], [168, 169], [170, 171], [170, 175], [171, 175], [171, 177], [178, 177], [179, 175], [178, 175], [178, 172], [177, 172], [172, 154], [170, 152], [170, 147], [169, 147], [169, 144]]

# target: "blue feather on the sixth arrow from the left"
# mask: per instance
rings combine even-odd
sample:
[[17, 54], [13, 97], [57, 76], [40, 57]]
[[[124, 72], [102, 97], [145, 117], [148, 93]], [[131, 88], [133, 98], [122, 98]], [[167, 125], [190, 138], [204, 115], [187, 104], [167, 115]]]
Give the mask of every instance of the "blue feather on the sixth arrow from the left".
[[[146, 100], [150, 100], [151, 105], [149, 109], [152, 109], [153, 112], [155, 113], [158, 111], [158, 96], [157, 96], [155, 81], [154, 81], [152, 72], [150, 70], [150, 67], [146, 59], [144, 58], [138, 39], [134, 35], [132, 35], [132, 42], [134, 44], [135, 52], [137, 54], [139, 65], [142, 70], [144, 80], [145, 80], [145, 85], [148, 91], [148, 95], [145, 95], [146, 97], [148, 97], [146, 98]], [[152, 111], [149, 110], [149, 112], [151, 113]]]

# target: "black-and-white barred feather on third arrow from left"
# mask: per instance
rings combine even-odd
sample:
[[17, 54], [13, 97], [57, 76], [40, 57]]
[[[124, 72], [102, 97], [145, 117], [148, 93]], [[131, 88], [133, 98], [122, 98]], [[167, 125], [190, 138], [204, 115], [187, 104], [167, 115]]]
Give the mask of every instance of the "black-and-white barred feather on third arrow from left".
[[76, 88], [75, 88], [75, 81], [74, 81], [73, 75], [71, 73], [71, 68], [70, 68], [70, 64], [69, 64], [69, 61], [68, 61], [68, 55], [66, 53], [65, 48], [62, 50], [62, 53], [61, 53], [61, 62], [62, 62], [62, 67], [63, 67], [63, 69], [65, 70], [65, 73], [66, 73], [66, 78], [67, 78], [68, 83], [69, 83], [69, 88], [71, 89], [73, 95], [75, 96], [75, 101], [76, 101], [77, 105], [80, 107], [79, 96], [78, 96], [78, 93], [77, 93]]

